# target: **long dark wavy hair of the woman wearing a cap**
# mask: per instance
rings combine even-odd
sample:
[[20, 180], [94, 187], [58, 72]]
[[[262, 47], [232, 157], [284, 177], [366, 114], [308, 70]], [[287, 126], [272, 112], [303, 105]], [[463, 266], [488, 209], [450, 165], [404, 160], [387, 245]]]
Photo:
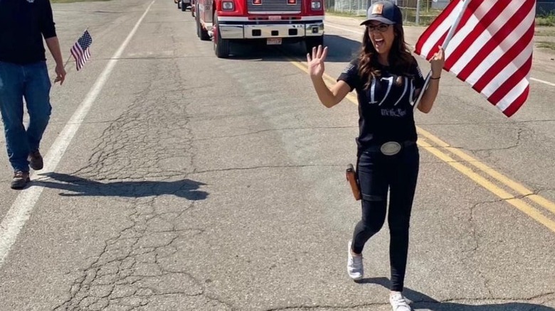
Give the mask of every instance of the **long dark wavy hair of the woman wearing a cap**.
[[[394, 24], [393, 33], [395, 34], [395, 38], [393, 39], [393, 44], [389, 51], [389, 67], [398, 75], [408, 75], [413, 62], [413, 56], [406, 46], [403, 26], [398, 23]], [[370, 40], [369, 28], [366, 27], [364, 38], [362, 38], [361, 51], [359, 53], [359, 76], [363, 81], [366, 80], [364, 89], [370, 87], [373, 77], [380, 76], [380, 72], [377, 68], [379, 68], [378, 52]], [[397, 81], [398, 84], [401, 82], [402, 80]]]

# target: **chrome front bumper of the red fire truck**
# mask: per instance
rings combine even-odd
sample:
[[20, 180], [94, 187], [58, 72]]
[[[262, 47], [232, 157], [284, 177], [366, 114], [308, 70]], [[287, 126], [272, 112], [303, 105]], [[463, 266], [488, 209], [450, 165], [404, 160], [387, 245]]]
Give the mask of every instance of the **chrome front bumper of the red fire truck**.
[[222, 39], [299, 38], [323, 36], [324, 23], [219, 25]]

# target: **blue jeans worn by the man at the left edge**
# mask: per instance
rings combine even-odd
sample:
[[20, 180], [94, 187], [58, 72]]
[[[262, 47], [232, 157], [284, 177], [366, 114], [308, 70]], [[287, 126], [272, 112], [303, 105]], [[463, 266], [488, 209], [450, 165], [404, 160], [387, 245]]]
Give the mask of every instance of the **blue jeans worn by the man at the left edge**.
[[[14, 171], [28, 171], [28, 155], [38, 150], [50, 120], [51, 85], [44, 61], [28, 65], [0, 62], [0, 110]], [[23, 125], [23, 98], [29, 114], [28, 129]]]

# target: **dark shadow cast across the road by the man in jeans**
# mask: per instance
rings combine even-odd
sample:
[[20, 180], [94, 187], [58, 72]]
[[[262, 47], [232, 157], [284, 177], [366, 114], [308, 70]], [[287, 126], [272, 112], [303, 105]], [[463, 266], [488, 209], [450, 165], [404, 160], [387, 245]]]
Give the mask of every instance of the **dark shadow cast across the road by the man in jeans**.
[[73, 193], [60, 193], [68, 197], [98, 196], [98, 197], [150, 197], [156, 195], [175, 195], [187, 200], [204, 200], [208, 192], [198, 190], [202, 182], [184, 179], [176, 181], [121, 181], [97, 182], [78, 176], [62, 173], [45, 173], [52, 180], [33, 180], [32, 186], [65, 190]]

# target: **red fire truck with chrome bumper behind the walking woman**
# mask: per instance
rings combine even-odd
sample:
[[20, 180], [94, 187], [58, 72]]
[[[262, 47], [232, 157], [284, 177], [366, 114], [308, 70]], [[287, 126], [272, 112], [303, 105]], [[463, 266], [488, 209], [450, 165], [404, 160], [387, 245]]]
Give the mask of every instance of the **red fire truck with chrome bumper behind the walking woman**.
[[196, 0], [196, 34], [213, 39], [218, 58], [230, 43], [258, 40], [266, 45], [304, 42], [307, 50], [323, 44], [323, 0]]

